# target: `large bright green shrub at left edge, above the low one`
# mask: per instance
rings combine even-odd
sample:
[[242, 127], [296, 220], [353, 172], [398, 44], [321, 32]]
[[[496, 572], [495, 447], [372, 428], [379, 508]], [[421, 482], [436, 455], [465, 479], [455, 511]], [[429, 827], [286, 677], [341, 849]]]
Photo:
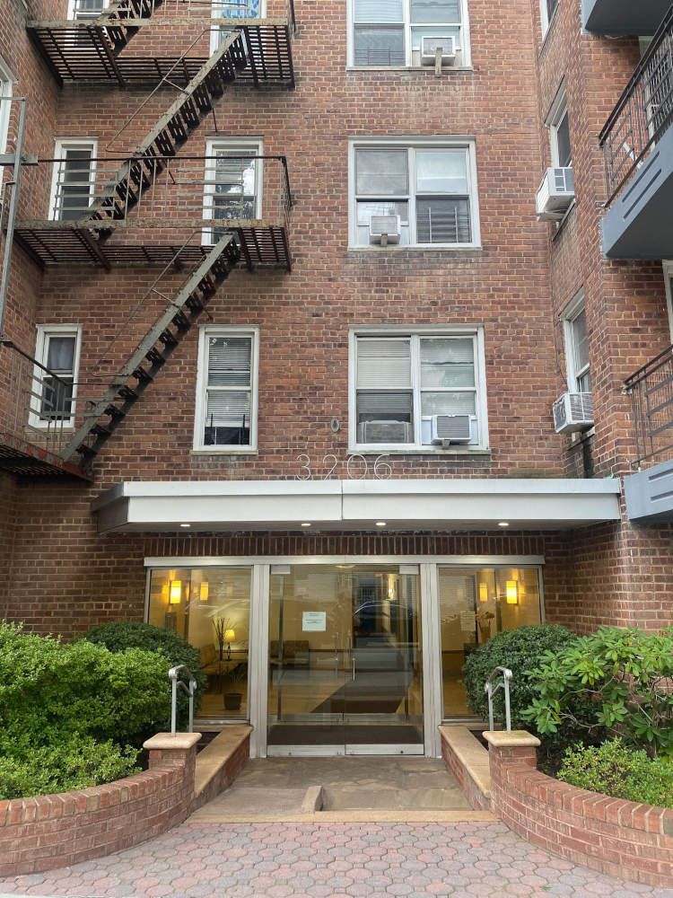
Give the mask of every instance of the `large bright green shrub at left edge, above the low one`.
[[137, 648], [114, 654], [0, 623], [0, 756], [28, 763], [74, 734], [133, 741], [170, 716], [169, 666]]

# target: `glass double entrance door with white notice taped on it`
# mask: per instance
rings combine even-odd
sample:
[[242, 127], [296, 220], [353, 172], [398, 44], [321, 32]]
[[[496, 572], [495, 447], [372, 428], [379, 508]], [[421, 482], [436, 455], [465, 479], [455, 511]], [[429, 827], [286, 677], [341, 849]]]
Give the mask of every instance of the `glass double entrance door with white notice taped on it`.
[[267, 753], [423, 754], [413, 565], [276, 565]]

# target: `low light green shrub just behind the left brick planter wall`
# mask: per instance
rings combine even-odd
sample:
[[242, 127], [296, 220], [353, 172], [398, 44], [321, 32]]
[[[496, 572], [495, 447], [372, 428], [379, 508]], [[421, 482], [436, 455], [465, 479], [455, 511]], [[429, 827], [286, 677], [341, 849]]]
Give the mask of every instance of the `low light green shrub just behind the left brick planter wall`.
[[68, 789], [101, 786], [140, 771], [137, 749], [122, 749], [111, 740], [97, 743], [92, 736], [33, 749], [24, 760], [0, 757], [0, 800], [53, 795]]

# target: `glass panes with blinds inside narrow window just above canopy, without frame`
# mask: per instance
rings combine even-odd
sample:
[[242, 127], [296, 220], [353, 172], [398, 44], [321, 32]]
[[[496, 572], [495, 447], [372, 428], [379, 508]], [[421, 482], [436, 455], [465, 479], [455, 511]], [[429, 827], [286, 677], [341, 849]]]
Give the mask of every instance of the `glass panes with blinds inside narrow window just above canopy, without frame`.
[[249, 446], [252, 335], [208, 334], [205, 345], [204, 446]]

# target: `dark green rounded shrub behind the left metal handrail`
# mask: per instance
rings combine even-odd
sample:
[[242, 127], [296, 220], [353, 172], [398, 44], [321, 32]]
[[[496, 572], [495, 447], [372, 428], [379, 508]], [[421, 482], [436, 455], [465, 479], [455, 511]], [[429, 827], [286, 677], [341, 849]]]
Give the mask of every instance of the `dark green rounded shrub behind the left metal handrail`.
[[[197, 681], [197, 691], [194, 694], [194, 713], [196, 714], [197, 710], [201, 708], [201, 700], [208, 682], [201, 666], [201, 651], [189, 645], [188, 640], [181, 637], [175, 630], [161, 629], [161, 627], [153, 627], [152, 624], [138, 623], [137, 621], [103, 623], [84, 633], [84, 638], [89, 642], [105, 646], [110, 652], [124, 652], [127, 648], [140, 648], [145, 652], [158, 652], [169, 660], [169, 667], [185, 665], [194, 674]], [[166, 688], [170, 688], [168, 679]], [[188, 719], [188, 696], [179, 690], [178, 728], [186, 730]], [[170, 729], [170, 711], [162, 728]]]

